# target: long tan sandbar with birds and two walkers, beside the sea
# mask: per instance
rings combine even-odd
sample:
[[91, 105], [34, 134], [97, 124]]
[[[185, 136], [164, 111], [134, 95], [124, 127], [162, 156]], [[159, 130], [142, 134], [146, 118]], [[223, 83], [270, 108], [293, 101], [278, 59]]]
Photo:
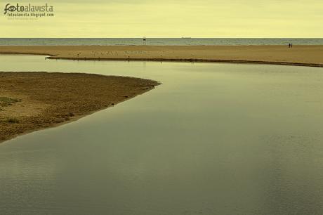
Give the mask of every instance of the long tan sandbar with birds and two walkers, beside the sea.
[[323, 67], [323, 46], [0, 46], [0, 53], [72, 60], [266, 63]]

